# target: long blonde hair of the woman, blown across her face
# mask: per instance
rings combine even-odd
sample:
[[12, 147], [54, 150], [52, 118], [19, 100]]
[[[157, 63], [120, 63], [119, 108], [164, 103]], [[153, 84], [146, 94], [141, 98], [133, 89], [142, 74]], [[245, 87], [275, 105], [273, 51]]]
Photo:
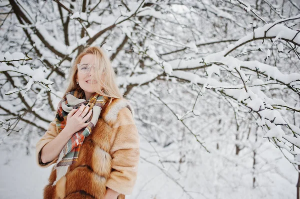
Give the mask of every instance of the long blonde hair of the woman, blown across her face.
[[[93, 90], [99, 95], [110, 97], [110, 102], [112, 98], [123, 99], [119, 88], [116, 84], [116, 75], [111, 66], [110, 59], [99, 47], [86, 47], [74, 60], [74, 63], [70, 69], [70, 75], [68, 78], [68, 86], [63, 95], [65, 97], [67, 92], [79, 91], [79, 97], [82, 98], [84, 91], [76, 83], [77, 79], [77, 64], [80, 63], [82, 57], [87, 54], [94, 55], [94, 71], [95, 73], [91, 75], [91, 80], [96, 80], [97, 84], [91, 84]], [[103, 79], [101, 76], [103, 75]], [[101, 88], [103, 90], [101, 90]], [[110, 103], [109, 102], [109, 103]]]

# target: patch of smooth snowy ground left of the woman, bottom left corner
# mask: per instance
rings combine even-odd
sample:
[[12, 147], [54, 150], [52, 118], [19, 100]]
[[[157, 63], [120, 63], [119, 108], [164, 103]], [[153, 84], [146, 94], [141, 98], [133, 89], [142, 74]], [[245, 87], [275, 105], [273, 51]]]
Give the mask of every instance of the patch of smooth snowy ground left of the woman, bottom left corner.
[[[3, 159], [0, 173], [0, 196], [3, 199], [42, 198], [42, 190], [47, 183], [50, 168], [41, 169], [36, 165], [32, 148], [29, 156], [24, 153], [24, 151], [20, 151], [22, 156], [14, 154], [15, 156], [11, 155], [8, 158], [5, 153], [1, 152]], [[5, 163], [8, 159], [10, 161]]]

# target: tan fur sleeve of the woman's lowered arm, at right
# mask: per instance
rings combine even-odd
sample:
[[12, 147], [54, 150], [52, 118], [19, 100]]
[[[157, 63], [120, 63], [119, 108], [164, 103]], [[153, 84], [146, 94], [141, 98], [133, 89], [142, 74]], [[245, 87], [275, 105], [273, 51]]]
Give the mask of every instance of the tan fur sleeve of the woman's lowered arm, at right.
[[123, 195], [132, 193], [139, 163], [139, 136], [132, 114], [122, 108], [113, 126], [115, 132], [111, 153], [111, 173], [106, 187]]

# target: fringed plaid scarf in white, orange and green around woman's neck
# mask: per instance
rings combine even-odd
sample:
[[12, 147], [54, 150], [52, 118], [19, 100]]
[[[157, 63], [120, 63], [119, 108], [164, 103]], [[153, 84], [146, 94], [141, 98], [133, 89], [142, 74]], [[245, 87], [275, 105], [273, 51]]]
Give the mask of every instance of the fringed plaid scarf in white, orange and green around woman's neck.
[[[58, 103], [56, 113], [57, 133], [60, 133], [65, 127], [67, 114], [73, 108], [79, 108], [81, 104], [90, 105], [89, 110], [92, 109], [92, 115], [86, 122], [91, 122], [84, 129], [82, 128], [81, 130], [74, 133], [61, 150], [58, 156], [58, 160], [53, 168], [56, 169], [56, 180], [54, 181], [53, 186], [62, 176], [66, 174], [68, 167], [72, 165], [73, 162], [76, 162], [78, 160], [78, 154], [83, 140], [91, 133], [91, 130], [96, 125], [100, 112], [108, 99], [105, 96], [101, 96], [98, 93], [95, 93], [86, 101], [85, 99], [78, 98], [79, 94], [80, 93], [78, 91], [68, 92], [66, 93], [66, 96]], [[86, 108], [88, 108], [88, 106]]]

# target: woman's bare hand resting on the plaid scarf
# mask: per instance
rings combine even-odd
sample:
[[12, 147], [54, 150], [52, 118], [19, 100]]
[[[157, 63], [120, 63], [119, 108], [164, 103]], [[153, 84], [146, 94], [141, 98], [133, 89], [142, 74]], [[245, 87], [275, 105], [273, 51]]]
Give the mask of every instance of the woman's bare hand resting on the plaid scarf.
[[[72, 109], [66, 118], [66, 126], [64, 128], [68, 129], [68, 132], [73, 135], [75, 132], [80, 129], [87, 127], [90, 122], [85, 123], [86, 120], [90, 117], [92, 109], [87, 113], [88, 106], [81, 104], [80, 108]], [[86, 114], [87, 113], [87, 114]], [[86, 115], [85, 115], [86, 114]]]

